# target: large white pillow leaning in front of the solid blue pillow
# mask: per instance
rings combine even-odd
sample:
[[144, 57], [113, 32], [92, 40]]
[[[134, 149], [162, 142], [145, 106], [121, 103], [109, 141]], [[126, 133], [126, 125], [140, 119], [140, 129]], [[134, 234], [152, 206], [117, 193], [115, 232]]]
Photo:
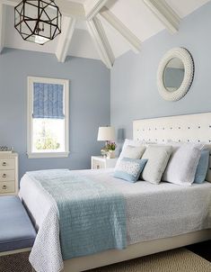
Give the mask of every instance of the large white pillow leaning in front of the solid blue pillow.
[[199, 143], [175, 144], [162, 180], [177, 185], [191, 186], [203, 148], [204, 144]]

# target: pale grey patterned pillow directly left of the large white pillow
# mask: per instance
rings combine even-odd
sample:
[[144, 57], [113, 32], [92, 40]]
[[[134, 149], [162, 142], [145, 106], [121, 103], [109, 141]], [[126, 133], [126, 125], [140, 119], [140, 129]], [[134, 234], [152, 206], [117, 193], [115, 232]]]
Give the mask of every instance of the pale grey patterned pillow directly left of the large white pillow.
[[149, 145], [142, 156], [142, 159], [147, 159], [141, 175], [142, 179], [153, 184], [159, 184], [170, 159], [171, 152], [171, 146]]

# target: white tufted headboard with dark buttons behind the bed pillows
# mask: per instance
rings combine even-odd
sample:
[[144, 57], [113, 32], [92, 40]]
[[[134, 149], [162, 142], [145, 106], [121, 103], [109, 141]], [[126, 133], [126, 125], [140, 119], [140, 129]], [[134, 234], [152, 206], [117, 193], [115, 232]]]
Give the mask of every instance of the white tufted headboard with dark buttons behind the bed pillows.
[[[211, 113], [136, 120], [133, 122], [133, 138], [158, 143], [168, 140], [203, 142], [210, 145], [211, 154]], [[211, 182], [211, 159], [207, 180]]]

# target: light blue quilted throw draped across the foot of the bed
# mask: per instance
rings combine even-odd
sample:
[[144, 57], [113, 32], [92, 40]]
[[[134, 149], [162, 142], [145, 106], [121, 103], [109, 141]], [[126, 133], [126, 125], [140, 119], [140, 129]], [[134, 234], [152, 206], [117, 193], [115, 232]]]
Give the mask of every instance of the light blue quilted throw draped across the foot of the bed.
[[66, 169], [28, 175], [57, 203], [63, 259], [126, 247], [126, 202], [117, 189]]

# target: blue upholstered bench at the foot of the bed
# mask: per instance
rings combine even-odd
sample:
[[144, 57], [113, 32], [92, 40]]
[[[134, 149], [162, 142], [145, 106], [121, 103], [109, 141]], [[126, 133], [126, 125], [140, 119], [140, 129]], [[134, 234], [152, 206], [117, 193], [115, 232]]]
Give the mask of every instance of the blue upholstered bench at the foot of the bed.
[[0, 256], [29, 251], [36, 231], [18, 196], [0, 197]]

